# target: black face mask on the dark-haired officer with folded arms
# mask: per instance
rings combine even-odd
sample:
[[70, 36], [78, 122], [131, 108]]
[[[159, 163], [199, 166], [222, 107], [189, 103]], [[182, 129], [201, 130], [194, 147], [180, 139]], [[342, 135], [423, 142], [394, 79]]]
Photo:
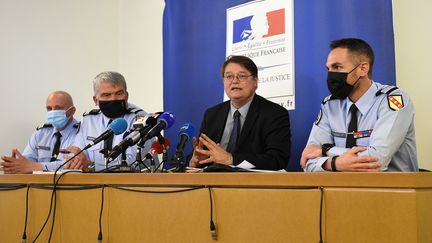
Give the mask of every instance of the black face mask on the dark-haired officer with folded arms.
[[[353, 68], [350, 72], [331, 72], [327, 74], [327, 87], [333, 97], [337, 99], [345, 99], [354, 89], [354, 85], [347, 83], [348, 74], [354, 71], [359, 65]], [[360, 77], [355, 81], [356, 84]]]

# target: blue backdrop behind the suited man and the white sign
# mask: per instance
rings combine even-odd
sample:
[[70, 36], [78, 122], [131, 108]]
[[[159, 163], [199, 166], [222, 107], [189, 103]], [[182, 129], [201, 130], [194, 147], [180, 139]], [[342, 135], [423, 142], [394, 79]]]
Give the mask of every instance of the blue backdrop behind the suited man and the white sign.
[[[166, 131], [177, 144], [183, 123], [198, 135], [204, 111], [223, 101], [220, 66], [225, 60], [226, 9], [246, 0], [165, 0], [163, 16], [164, 110], [176, 115]], [[294, 52], [296, 109], [290, 111], [292, 154], [288, 170], [300, 171], [326, 86], [325, 62], [331, 40], [356, 37], [375, 51], [373, 79], [395, 84], [391, 0], [295, 0]], [[189, 143], [186, 151], [191, 151]]]

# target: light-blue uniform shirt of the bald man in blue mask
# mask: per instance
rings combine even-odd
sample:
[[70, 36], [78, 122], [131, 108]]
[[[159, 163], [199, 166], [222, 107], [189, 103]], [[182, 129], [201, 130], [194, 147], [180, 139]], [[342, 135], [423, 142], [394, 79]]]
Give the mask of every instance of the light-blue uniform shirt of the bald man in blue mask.
[[[73, 119], [65, 129], [60, 131], [62, 135], [60, 140], [60, 149], [65, 149], [66, 147], [73, 145], [78, 129], [79, 123], [77, 120]], [[38, 127], [37, 131], [31, 136], [22, 155], [28, 160], [41, 162], [42, 167], [45, 170], [55, 170], [62, 162], [60, 159], [61, 156], [59, 156], [56, 161], [50, 162], [54, 144], [56, 142], [56, 136], [54, 135], [56, 132], [57, 129], [48, 123]]]

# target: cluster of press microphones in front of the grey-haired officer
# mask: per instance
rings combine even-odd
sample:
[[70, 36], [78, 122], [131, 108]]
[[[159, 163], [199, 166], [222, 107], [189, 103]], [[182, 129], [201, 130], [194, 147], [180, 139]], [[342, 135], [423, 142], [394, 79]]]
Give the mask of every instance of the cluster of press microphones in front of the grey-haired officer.
[[[106, 158], [106, 163], [108, 164], [117, 159], [117, 157], [124, 153], [129, 147], [134, 145], [143, 147], [148, 140], [157, 137], [157, 141], [152, 144], [151, 150], [144, 157], [145, 159], [150, 159], [154, 155], [166, 152], [166, 150], [169, 148], [170, 141], [168, 138], [163, 137], [161, 132], [162, 130], [170, 128], [174, 122], [175, 117], [172, 113], [156, 113], [154, 115], [137, 118], [137, 120], [133, 123], [133, 128], [126, 132], [128, 128], [127, 121], [124, 118], [117, 118], [109, 124], [108, 129], [105, 132], [87, 144], [83, 150], [86, 150], [113, 135], [120, 135], [124, 133], [123, 140], [114, 146], [111, 152], [108, 154]], [[183, 170], [184, 166], [183, 150], [190, 138], [193, 137], [194, 132], [195, 129], [190, 123], [185, 123], [183, 126], [181, 126], [178, 132], [180, 141], [177, 144], [171, 163], [174, 166], [177, 166], [177, 170], [179, 171]]]

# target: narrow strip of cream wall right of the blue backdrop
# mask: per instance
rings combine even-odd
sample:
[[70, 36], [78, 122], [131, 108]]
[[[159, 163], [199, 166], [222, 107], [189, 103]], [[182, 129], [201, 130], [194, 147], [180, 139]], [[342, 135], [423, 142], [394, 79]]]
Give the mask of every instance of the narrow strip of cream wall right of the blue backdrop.
[[429, 0], [393, 0], [397, 85], [414, 102], [418, 159], [420, 167], [429, 170], [432, 170], [431, 9]]

